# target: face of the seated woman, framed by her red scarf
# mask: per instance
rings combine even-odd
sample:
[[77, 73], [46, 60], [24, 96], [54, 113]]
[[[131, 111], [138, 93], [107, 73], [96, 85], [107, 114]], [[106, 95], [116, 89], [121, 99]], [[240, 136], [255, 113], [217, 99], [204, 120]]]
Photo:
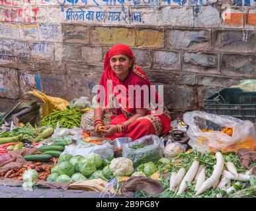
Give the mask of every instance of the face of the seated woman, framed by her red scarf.
[[128, 75], [131, 63], [131, 59], [124, 54], [114, 55], [110, 58], [110, 66], [120, 79], [124, 79]]

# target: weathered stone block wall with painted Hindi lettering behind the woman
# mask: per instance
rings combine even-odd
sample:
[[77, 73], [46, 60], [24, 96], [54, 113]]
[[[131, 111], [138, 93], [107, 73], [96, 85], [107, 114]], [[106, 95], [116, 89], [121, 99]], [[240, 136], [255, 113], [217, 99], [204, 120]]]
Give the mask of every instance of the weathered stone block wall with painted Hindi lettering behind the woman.
[[128, 44], [171, 111], [256, 78], [256, 0], [0, 0], [0, 111], [38, 89], [92, 96], [113, 44]]

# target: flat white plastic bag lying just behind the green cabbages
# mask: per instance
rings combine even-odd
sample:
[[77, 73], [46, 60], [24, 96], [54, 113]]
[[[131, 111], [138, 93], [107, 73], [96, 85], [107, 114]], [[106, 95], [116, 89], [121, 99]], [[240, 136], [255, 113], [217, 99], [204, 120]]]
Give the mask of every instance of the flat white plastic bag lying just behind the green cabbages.
[[89, 153], [96, 153], [101, 156], [101, 158], [109, 158], [114, 156], [114, 146], [109, 144], [108, 142], [106, 144], [78, 144], [77, 146], [75, 145], [69, 145], [65, 146], [64, 153], [71, 154], [73, 156], [86, 156]]

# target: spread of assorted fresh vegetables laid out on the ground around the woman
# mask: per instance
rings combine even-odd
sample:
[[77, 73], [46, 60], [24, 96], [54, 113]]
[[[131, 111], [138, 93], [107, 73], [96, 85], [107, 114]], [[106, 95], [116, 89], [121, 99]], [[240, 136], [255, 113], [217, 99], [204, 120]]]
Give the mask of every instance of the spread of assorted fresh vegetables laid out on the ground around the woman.
[[[19, 124], [11, 131], [1, 132], [0, 158], [24, 148], [37, 151], [23, 156], [25, 162], [32, 164], [0, 171], [0, 178], [24, 181], [23, 189], [30, 191], [38, 181], [67, 184], [105, 181], [114, 189], [111, 193], [124, 196], [133, 193], [134, 197], [147, 198], [256, 197], [256, 177], [251, 169], [241, 165], [235, 152], [201, 153], [196, 149], [186, 152], [176, 142], [162, 148], [158, 137], [149, 136], [122, 145], [118, 148], [122, 150], [121, 157], [113, 153], [116, 157], [103, 158], [94, 152], [73, 156], [65, 150], [79, 146], [81, 141], [87, 146], [105, 144], [103, 138], [91, 137], [85, 131], [81, 132], [83, 140], [78, 141], [62, 132], [56, 136], [58, 127], [67, 131], [79, 128], [83, 112], [69, 108], [53, 111], [38, 125]], [[0, 123], [4, 122], [5, 119], [0, 119]], [[221, 131], [228, 136], [234, 132], [230, 127]]]

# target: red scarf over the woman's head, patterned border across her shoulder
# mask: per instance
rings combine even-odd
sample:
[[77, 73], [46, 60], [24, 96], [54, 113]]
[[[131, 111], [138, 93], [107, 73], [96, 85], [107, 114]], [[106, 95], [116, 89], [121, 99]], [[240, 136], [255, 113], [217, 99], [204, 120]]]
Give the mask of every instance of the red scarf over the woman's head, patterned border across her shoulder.
[[[146, 80], [147, 84], [150, 86], [151, 82], [149, 82], [148, 77], [146, 74], [139, 68], [139, 67], [134, 67], [135, 63], [135, 57], [134, 54], [132, 53], [132, 49], [128, 45], [114, 45], [111, 49], [108, 50], [108, 52], [105, 55], [105, 61], [104, 61], [104, 73], [103, 76], [101, 77], [101, 82], [100, 84], [105, 87], [105, 106], [107, 106], [107, 80], [112, 80], [113, 86], [122, 84], [120, 80], [117, 78], [116, 74], [114, 71], [112, 71], [112, 68], [110, 66], [110, 58], [113, 57], [114, 55], [118, 54], [124, 54], [128, 55], [132, 59], [132, 68], [130, 71], [134, 71], [136, 75], [142, 77], [144, 80]], [[128, 93], [128, 90], [126, 89], [126, 93]], [[157, 93], [155, 92], [155, 97], [156, 99], [159, 100]], [[127, 109], [127, 108], [126, 108]], [[128, 111], [130, 109], [127, 109]]]

